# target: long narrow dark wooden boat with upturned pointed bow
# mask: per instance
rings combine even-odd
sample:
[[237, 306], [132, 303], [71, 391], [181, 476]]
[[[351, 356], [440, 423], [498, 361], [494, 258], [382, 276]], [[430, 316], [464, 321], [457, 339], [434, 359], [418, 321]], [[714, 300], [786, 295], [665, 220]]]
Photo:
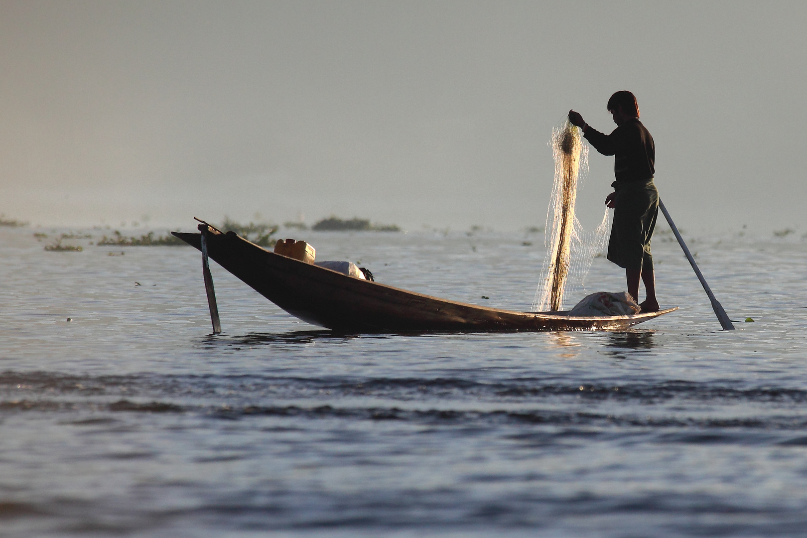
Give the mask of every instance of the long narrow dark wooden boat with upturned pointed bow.
[[[172, 232], [195, 248], [201, 234]], [[449, 301], [349, 277], [268, 252], [232, 231], [204, 231], [208, 255], [278, 307], [349, 332], [514, 332], [621, 329], [677, 309], [607, 317], [516, 312]]]

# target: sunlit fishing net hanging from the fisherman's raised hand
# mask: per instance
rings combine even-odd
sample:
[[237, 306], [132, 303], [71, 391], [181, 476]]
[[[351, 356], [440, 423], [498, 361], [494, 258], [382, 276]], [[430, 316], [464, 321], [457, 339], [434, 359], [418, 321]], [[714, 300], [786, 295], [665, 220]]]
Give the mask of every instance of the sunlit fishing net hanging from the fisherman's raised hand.
[[[533, 311], [559, 311], [563, 296], [584, 291], [594, 256], [602, 252], [608, 237], [608, 209], [594, 231], [584, 231], [575, 216], [578, 185], [588, 172], [588, 144], [580, 129], [568, 120], [552, 129], [554, 184], [546, 211], [541, 284], [535, 292]], [[550, 224], [551, 219], [551, 224]]]

